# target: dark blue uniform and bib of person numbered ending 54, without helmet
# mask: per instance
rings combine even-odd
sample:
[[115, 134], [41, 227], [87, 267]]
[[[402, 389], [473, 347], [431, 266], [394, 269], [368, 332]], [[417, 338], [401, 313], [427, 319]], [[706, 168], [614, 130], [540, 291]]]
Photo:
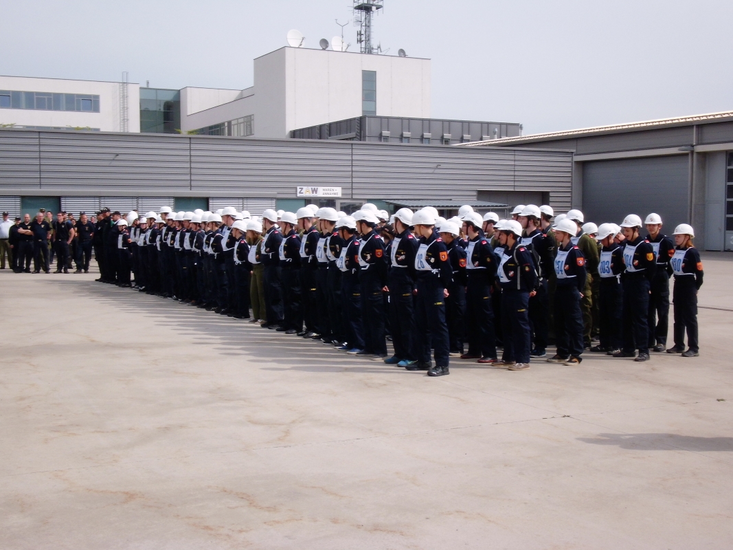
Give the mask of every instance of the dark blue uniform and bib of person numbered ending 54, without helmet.
[[583, 354], [583, 313], [581, 293], [586, 285], [586, 259], [572, 241], [558, 243], [555, 255], [555, 334], [557, 356], [561, 359], [581, 358]]

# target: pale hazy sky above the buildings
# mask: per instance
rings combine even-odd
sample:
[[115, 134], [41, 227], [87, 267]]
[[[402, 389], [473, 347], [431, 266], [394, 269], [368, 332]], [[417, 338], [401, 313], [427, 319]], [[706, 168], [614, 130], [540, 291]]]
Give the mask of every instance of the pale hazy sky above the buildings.
[[[0, 74], [244, 88], [289, 29], [317, 48], [350, 0], [0, 0]], [[733, 109], [731, 0], [385, 0], [389, 54], [432, 59], [432, 117], [524, 132]], [[356, 49], [356, 28], [345, 27]]]

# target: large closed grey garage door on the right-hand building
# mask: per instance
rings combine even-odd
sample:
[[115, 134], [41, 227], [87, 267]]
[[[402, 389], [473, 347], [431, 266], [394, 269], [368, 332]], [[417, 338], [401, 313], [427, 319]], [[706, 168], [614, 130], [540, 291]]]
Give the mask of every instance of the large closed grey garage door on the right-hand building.
[[656, 212], [667, 233], [689, 223], [688, 155], [584, 163], [583, 212], [597, 224]]

